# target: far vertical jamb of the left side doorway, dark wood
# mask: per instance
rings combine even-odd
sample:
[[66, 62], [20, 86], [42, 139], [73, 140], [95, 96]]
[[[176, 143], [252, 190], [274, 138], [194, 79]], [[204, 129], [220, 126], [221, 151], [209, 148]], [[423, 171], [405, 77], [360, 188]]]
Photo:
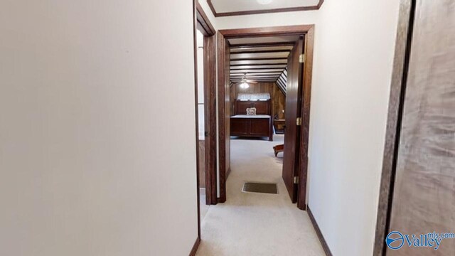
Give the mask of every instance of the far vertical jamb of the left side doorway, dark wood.
[[216, 204], [216, 36], [204, 36], [205, 202]]

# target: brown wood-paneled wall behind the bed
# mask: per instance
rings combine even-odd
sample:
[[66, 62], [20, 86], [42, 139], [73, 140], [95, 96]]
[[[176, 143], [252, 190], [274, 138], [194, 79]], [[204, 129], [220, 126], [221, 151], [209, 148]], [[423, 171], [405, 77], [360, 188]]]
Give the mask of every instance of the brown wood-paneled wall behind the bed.
[[230, 112], [231, 115], [234, 113], [235, 99], [237, 99], [238, 93], [259, 93], [259, 92], [269, 92], [270, 97], [272, 97], [272, 117], [278, 115], [279, 119], [284, 119], [284, 106], [286, 105], [286, 96], [283, 92], [279, 90], [278, 86], [274, 82], [268, 83], [257, 83], [250, 84], [250, 87], [247, 89], [240, 88], [240, 85], [232, 85], [230, 87]]

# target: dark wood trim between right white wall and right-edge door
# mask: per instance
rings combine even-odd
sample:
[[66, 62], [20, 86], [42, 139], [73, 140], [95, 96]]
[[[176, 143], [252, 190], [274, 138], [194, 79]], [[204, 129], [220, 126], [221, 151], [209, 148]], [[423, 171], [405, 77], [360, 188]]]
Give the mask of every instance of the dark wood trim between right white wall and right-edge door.
[[395, 185], [398, 146], [400, 145], [401, 121], [403, 104], [405, 102], [414, 12], [415, 1], [400, 0], [373, 255], [385, 255], [386, 252], [385, 236], [389, 232], [390, 226], [390, 213]]

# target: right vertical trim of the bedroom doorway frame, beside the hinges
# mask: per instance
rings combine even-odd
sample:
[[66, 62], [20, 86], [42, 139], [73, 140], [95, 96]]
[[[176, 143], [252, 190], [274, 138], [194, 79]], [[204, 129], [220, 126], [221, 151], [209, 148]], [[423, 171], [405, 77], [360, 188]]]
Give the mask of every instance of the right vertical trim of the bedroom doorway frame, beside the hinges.
[[[300, 134], [300, 173], [299, 173], [299, 196], [297, 196], [297, 207], [301, 210], [306, 210], [306, 185], [308, 172], [308, 142], [310, 131], [310, 107], [311, 107], [311, 81], [313, 74], [313, 53], [314, 53], [314, 28], [311, 28], [306, 33], [304, 39], [304, 49], [306, 60], [304, 62], [304, 70], [302, 73], [302, 105], [301, 105], [301, 134]], [[283, 71], [284, 73], [284, 71]]]

